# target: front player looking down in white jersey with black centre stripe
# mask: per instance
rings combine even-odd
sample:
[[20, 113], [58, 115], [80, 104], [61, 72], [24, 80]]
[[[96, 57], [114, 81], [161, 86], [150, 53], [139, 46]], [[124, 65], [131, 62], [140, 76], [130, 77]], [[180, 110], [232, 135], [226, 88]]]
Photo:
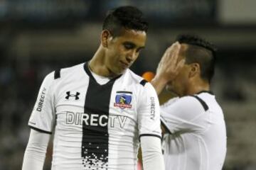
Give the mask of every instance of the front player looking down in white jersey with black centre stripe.
[[46, 76], [28, 122], [23, 170], [43, 169], [51, 134], [52, 170], [137, 169], [139, 142], [144, 169], [164, 169], [156, 91], [129, 69], [147, 29], [139, 9], [115, 8], [90, 61]]

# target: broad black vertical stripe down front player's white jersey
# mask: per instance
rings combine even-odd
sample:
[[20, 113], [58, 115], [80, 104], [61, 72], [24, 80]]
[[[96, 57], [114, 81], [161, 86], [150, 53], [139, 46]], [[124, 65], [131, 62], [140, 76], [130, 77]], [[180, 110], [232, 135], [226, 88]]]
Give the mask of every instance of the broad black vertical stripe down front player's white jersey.
[[[85, 96], [85, 110], [89, 115], [88, 122], [94, 121], [97, 125], [82, 123], [82, 164], [86, 169], [107, 169], [109, 134], [107, 121], [110, 109], [110, 96], [114, 80], [107, 84], [97, 84], [90, 70], [85, 64], [85, 72], [89, 75], [89, 86]], [[116, 78], [117, 79], [117, 78]], [[94, 119], [92, 119], [94, 116]], [[105, 126], [100, 124], [101, 120]], [[97, 119], [97, 120], [95, 120]]]

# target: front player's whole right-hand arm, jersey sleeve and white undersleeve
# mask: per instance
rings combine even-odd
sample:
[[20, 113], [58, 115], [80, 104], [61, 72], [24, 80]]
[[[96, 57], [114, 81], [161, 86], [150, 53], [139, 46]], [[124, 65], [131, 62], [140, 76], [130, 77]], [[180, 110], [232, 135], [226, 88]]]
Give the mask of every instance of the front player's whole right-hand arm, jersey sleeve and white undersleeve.
[[164, 170], [161, 154], [161, 129], [159, 100], [151, 84], [144, 85], [139, 99], [138, 120], [139, 140], [142, 147], [144, 170]]

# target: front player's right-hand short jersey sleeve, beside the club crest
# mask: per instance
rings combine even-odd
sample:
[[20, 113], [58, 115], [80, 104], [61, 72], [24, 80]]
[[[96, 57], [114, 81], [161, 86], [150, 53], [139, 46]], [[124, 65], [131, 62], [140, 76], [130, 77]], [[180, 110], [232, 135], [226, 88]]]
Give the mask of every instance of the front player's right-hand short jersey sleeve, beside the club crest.
[[138, 128], [139, 138], [156, 136], [161, 138], [160, 106], [156, 91], [151, 84], [146, 83], [139, 96]]

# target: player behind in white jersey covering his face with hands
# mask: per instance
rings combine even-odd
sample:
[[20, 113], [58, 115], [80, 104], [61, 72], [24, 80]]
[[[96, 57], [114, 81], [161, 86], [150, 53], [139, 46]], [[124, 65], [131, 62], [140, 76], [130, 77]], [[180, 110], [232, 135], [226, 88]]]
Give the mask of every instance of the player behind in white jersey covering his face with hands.
[[226, 154], [223, 111], [210, 91], [215, 47], [192, 35], [178, 36], [151, 81], [178, 95], [161, 106], [166, 170], [220, 170]]

